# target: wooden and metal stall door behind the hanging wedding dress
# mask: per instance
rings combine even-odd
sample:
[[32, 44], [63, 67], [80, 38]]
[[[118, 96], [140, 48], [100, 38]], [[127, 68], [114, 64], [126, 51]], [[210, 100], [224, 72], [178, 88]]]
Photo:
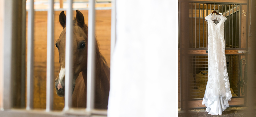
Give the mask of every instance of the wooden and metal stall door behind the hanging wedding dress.
[[[184, 7], [186, 8], [183, 9]], [[180, 2], [179, 8], [180, 13], [187, 12], [179, 15], [180, 26], [187, 27], [186, 30], [180, 27], [181, 108], [205, 108], [202, 100], [208, 80], [208, 24], [204, 21], [204, 17], [213, 10], [227, 18], [224, 38], [232, 93], [229, 106], [245, 105], [245, 87], [241, 88], [240, 83], [243, 82], [239, 83], [239, 81], [243, 78], [246, 82], [246, 72], [241, 74], [239, 71], [246, 69], [245, 62], [247, 62], [247, 4]], [[183, 25], [184, 19], [187, 20]], [[218, 21], [214, 23], [217, 24]], [[242, 64], [241, 60], [243, 60]]]

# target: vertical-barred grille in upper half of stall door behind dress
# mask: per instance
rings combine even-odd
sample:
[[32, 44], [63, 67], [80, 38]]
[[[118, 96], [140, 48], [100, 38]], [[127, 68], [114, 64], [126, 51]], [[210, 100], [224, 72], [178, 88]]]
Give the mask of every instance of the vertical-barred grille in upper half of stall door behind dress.
[[[215, 10], [227, 18], [225, 21], [224, 38], [226, 48], [239, 48], [240, 35], [240, 5], [239, 4], [204, 4], [189, 3], [189, 18], [191, 19], [190, 48], [207, 48], [208, 24], [204, 17]], [[218, 21], [214, 21], [216, 24]]]

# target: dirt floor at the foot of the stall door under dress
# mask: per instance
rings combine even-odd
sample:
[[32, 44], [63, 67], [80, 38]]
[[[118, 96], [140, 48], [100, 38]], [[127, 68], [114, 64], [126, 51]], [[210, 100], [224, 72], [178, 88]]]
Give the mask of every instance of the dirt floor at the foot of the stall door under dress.
[[185, 110], [178, 109], [178, 117], [245, 117], [247, 113], [246, 107], [229, 107], [222, 112], [222, 115], [210, 115], [205, 112], [205, 109], [189, 110], [187, 114], [185, 112]]

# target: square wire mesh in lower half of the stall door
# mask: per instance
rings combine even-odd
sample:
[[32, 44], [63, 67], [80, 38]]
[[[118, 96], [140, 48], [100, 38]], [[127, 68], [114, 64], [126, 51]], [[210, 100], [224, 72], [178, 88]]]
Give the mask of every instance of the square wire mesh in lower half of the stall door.
[[[239, 55], [226, 55], [227, 71], [229, 75], [230, 90], [233, 97], [239, 96]], [[208, 81], [208, 55], [190, 56], [190, 99], [204, 98]]]

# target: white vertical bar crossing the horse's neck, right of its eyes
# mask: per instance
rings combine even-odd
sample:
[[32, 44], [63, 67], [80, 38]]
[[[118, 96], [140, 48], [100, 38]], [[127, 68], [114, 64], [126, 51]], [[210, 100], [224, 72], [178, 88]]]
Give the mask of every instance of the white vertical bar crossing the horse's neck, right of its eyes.
[[87, 105], [86, 111], [94, 109], [94, 70], [95, 70], [95, 0], [89, 0], [88, 11], [88, 61], [87, 61]]

